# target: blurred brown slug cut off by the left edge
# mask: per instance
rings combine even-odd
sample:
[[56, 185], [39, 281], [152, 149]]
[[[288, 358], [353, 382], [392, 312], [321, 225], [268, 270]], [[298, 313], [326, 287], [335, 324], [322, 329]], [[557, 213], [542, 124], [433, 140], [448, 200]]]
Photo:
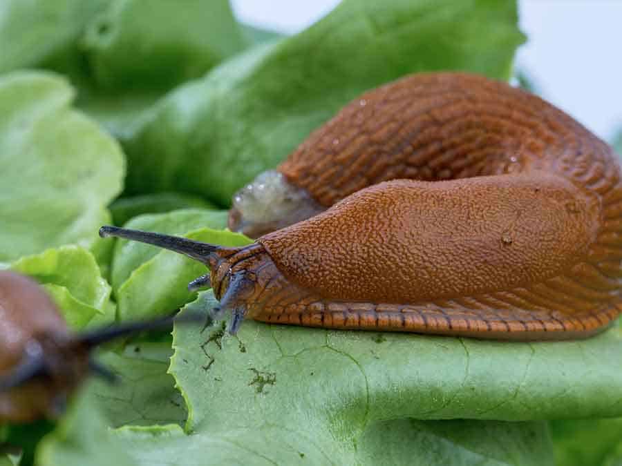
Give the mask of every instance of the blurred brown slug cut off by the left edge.
[[97, 345], [171, 322], [160, 318], [75, 335], [37, 282], [0, 271], [0, 422], [57, 416], [88, 373], [114, 379], [91, 359]]

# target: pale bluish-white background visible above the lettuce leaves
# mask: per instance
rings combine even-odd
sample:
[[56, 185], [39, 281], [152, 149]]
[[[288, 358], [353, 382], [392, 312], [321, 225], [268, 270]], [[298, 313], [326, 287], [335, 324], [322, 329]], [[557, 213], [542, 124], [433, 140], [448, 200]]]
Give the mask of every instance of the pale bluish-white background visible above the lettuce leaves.
[[[380, 1], [380, 0], [379, 0]], [[294, 33], [339, 0], [232, 0], [243, 21]], [[622, 128], [622, 0], [520, 0], [517, 65], [540, 95], [604, 139]]]

